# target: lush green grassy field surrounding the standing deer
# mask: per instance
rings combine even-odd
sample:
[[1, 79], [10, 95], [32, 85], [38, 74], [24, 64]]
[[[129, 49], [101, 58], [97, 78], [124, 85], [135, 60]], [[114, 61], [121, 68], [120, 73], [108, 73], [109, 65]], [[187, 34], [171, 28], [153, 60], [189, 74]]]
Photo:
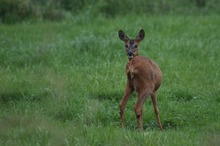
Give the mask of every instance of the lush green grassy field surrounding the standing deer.
[[[76, 17], [0, 24], [0, 145], [218, 145], [220, 17]], [[144, 132], [133, 105], [122, 129], [119, 101], [127, 57], [118, 30], [146, 37], [139, 53], [163, 72], [158, 106], [144, 105]]]

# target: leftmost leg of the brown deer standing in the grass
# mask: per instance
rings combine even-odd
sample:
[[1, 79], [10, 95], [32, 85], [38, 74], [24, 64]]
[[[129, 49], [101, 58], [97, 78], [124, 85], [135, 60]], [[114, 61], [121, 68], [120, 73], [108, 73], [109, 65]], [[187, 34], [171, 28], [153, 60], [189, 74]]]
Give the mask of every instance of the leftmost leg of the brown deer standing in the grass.
[[133, 87], [131, 87], [129, 81], [127, 81], [124, 96], [123, 96], [123, 98], [122, 98], [122, 100], [119, 104], [122, 128], [124, 128], [124, 110], [125, 110], [125, 106], [126, 106], [126, 103], [129, 99], [129, 97], [133, 93], [133, 91], [134, 91]]

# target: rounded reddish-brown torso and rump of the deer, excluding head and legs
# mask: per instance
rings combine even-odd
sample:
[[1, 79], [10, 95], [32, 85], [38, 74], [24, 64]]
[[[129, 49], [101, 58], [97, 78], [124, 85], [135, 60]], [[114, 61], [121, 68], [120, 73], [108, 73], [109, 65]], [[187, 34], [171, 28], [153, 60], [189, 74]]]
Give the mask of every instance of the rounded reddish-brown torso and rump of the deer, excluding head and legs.
[[126, 66], [126, 73], [131, 86], [136, 91], [144, 88], [156, 91], [162, 80], [162, 73], [155, 62], [147, 57], [136, 56]]

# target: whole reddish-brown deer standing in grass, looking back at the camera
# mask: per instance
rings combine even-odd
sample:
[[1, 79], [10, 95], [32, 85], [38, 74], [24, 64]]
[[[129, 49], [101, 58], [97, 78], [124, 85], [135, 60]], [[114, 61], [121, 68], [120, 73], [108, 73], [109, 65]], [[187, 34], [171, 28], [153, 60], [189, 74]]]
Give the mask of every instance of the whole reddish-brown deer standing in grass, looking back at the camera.
[[138, 45], [144, 39], [145, 32], [141, 29], [135, 39], [130, 39], [122, 30], [118, 31], [120, 40], [125, 43], [125, 50], [128, 57], [126, 65], [127, 83], [124, 96], [120, 101], [121, 124], [124, 128], [124, 110], [131, 94], [136, 91], [138, 99], [134, 105], [134, 111], [137, 118], [138, 128], [142, 131], [142, 106], [148, 96], [151, 96], [154, 112], [159, 124], [160, 130], [163, 130], [159, 111], [157, 107], [156, 92], [162, 81], [162, 72], [158, 65], [147, 57], [138, 55]]

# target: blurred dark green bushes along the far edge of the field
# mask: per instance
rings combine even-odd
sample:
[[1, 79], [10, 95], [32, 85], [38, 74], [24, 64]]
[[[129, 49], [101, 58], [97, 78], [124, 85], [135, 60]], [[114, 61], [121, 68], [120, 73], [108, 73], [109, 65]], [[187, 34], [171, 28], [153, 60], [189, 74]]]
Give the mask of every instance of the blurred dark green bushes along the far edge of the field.
[[0, 22], [59, 21], [83, 13], [91, 17], [129, 13], [219, 14], [219, 7], [219, 0], [0, 0]]

